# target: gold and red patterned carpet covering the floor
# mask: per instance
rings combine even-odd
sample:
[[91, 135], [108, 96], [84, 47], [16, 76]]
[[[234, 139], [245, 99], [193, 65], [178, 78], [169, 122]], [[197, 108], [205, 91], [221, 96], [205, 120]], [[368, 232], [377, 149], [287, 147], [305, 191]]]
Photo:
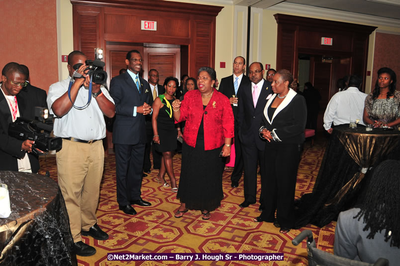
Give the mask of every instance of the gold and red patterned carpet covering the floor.
[[[322, 139], [310, 147], [305, 144], [299, 166], [296, 197], [312, 190], [325, 150]], [[174, 156], [175, 174], [179, 185], [181, 155]], [[55, 157], [41, 158], [41, 171], [49, 171], [57, 179]], [[170, 187], [157, 183], [158, 170], [143, 178], [142, 198], [151, 202], [150, 207], [134, 205], [138, 212], [129, 216], [118, 210], [115, 187], [115, 156], [106, 155], [104, 174], [97, 210], [98, 223], [109, 235], [106, 241], [83, 237], [84, 242], [95, 246], [97, 253], [92, 257], [78, 257], [79, 265], [122, 266], [122, 265], [308, 265], [306, 244], [292, 245], [292, 239], [303, 229], [280, 234], [272, 223], [256, 223], [259, 216], [258, 204], [240, 208], [243, 201], [243, 178], [238, 188], [230, 187], [231, 172], [224, 171], [224, 199], [221, 207], [211, 213], [211, 219], [201, 220], [200, 211], [189, 211], [183, 218], [174, 217], [180, 203]], [[166, 180], [169, 181], [168, 176]], [[261, 191], [260, 180], [258, 193]], [[314, 234], [317, 248], [333, 252], [335, 222], [323, 228], [308, 225]], [[110, 252], [133, 253], [284, 253], [284, 261], [107, 261]]]

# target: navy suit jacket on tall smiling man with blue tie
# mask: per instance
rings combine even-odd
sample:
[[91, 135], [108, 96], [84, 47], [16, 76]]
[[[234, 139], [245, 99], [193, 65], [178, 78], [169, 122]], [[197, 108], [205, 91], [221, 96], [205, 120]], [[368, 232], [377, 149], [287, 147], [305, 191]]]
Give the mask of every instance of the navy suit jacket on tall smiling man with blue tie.
[[128, 72], [111, 79], [110, 95], [115, 103], [115, 122], [112, 131], [112, 142], [116, 144], [146, 143], [145, 116], [136, 113], [134, 107], [149, 103], [150, 86], [139, 77], [140, 93]]

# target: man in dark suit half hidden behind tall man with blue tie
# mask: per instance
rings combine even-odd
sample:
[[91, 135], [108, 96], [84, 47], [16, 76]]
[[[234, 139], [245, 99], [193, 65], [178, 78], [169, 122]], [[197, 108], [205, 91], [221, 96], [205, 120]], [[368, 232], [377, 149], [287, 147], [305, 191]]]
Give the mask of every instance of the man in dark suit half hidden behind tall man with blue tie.
[[[154, 100], [161, 94], [165, 93], [165, 89], [163, 86], [158, 85], [158, 71], [155, 69], [150, 69], [149, 71], [149, 85], [151, 89], [151, 95], [149, 99], [149, 105], [153, 105]], [[153, 126], [151, 125], [151, 115], [145, 116], [146, 120], [146, 136], [147, 142], [144, 151], [144, 164], [143, 171], [150, 173], [151, 161], [150, 161], [150, 149], [153, 153], [153, 168], [160, 169], [161, 167], [161, 152], [156, 151], [153, 145]]]

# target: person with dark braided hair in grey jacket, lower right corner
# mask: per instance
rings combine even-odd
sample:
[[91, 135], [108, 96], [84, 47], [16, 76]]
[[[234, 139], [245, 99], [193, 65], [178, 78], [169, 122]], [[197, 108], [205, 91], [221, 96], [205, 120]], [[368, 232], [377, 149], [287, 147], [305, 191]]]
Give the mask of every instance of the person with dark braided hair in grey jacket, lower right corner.
[[374, 263], [379, 258], [398, 265], [400, 259], [400, 161], [376, 167], [359, 208], [339, 214], [334, 254]]

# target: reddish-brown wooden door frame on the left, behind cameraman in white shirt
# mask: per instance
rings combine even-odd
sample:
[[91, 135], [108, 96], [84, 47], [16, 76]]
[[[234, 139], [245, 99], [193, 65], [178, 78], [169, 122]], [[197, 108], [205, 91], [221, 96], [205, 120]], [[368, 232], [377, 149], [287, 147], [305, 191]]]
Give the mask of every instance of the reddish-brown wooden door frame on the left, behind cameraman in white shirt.
[[[187, 66], [181, 69], [187, 70], [190, 76], [196, 76], [196, 67], [200, 64], [215, 65], [215, 20], [223, 6], [164, 0], [151, 0], [151, 4], [148, 0], [70, 1], [74, 49], [91, 53], [87, 54], [90, 59], [94, 57], [91, 51], [98, 47], [105, 49], [107, 41], [156, 42], [186, 45]], [[157, 31], [141, 30], [141, 20], [159, 20]], [[88, 26], [90, 30], [85, 31]], [[199, 42], [202, 45], [197, 45]], [[104, 51], [104, 61], [107, 60], [107, 51]]]

